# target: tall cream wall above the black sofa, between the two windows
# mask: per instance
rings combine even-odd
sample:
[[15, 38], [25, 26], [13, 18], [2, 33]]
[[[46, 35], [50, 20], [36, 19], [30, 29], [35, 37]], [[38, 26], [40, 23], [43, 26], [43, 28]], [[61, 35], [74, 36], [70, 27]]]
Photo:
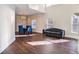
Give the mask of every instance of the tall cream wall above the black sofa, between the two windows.
[[54, 5], [47, 8], [47, 16], [53, 20], [53, 26], [64, 29], [67, 37], [79, 39], [79, 35], [71, 33], [71, 17], [73, 13], [79, 13], [79, 5]]

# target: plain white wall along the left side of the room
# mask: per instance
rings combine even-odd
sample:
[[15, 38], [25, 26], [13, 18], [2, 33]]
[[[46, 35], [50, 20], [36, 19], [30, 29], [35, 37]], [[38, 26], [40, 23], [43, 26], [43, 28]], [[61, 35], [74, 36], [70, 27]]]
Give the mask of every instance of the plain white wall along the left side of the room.
[[15, 10], [0, 5], [0, 53], [15, 41]]

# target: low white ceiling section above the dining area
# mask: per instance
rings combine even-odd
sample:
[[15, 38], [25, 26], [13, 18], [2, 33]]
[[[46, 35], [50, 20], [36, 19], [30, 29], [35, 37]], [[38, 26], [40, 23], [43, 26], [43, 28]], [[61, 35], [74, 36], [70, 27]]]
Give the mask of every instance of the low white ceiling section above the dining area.
[[28, 4], [17, 4], [17, 5], [15, 5], [15, 13], [18, 14], [18, 15], [41, 14], [41, 12], [29, 8]]

